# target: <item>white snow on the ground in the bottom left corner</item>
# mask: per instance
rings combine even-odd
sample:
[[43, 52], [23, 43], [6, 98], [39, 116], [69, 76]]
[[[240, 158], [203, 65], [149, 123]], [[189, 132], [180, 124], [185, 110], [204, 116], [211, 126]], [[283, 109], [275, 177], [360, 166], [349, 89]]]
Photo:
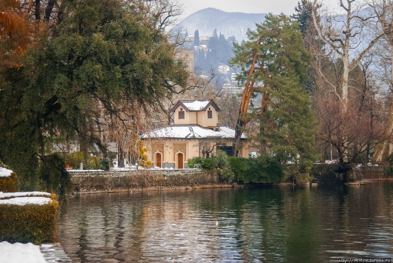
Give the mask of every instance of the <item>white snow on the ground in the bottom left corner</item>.
[[40, 247], [31, 243], [0, 242], [0, 255], [0, 263], [46, 263]]

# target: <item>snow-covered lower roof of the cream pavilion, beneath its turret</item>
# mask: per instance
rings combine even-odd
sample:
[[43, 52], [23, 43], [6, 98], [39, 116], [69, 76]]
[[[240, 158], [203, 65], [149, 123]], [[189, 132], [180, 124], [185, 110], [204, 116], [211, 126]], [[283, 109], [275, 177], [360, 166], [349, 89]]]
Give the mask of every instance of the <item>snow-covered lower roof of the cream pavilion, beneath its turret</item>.
[[[219, 131], [204, 128], [199, 125], [173, 125], [166, 128], [160, 128], [142, 135], [143, 139], [154, 138], [170, 138], [170, 139], [208, 139], [223, 138], [233, 139], [235, 130], [226, 126], [220, 126]], [[246, 139], [246, 135], [242, 134], [242, 139]]]

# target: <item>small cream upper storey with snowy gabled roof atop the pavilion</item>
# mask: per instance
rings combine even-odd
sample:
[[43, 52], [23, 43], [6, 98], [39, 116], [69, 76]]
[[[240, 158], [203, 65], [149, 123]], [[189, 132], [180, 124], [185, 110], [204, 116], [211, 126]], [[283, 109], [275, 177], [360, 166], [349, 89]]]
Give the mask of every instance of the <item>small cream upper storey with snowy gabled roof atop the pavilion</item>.
[[179, 100], [169, 112], [174, 113], [174, 124], [198, 124], [213, 128], [218, 123], [218, 112], [221, 108], [212, 100]]

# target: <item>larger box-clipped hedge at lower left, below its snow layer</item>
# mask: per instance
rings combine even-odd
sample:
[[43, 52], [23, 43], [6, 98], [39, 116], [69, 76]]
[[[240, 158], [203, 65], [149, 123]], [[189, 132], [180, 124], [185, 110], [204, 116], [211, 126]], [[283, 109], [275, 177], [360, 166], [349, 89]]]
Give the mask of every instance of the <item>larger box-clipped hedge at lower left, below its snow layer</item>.
[[51, 195], [46, 205], [0, 205], [0, 240], [11, 243], [53, 242], [59, 202]]

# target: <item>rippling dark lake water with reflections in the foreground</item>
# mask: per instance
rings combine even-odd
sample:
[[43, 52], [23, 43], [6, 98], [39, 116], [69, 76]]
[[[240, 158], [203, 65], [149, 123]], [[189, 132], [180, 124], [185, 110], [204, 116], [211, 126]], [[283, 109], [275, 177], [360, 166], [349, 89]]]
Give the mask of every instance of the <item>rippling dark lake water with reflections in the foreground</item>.
[[393, 257], [393, 182], [80, 195], [58, 234], [83, 263]]

